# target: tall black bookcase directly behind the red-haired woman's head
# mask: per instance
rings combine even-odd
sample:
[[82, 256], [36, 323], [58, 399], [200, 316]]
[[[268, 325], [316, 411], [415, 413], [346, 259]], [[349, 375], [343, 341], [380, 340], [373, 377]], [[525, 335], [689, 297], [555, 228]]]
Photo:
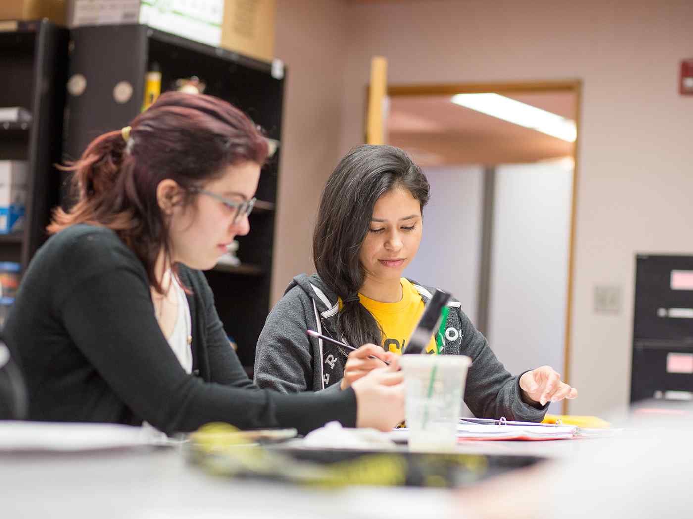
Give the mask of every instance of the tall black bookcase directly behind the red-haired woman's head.
[[[93, 138], [120, 129], [139, 113], [144, 75], [154, 63], [161, 70], [162, 92], [172, 89], [177, 78], [197, 75], [207, 83], [205, 93], [236, 105], [263, 127], [267, 138], [280, 140], [284, 71], [270, 63], [143, 25], [78, 27], [71, 30], [70, 48], [69, 77], [82, 75], [86, 88], [80, 95], [68, 95], [67, 160], [78, 158]], [[132, 86], [132, 97], [116, 101], [116, 84]], [[219, 265], [207, 272], [219, 316], [249, 372], [270, 310], [280, 153], [281, 145], [263, 168], [250, 234], [236, 238], [240, 266]], [[65, 176], [64, 186], [67, 180]], [[62, 200], [69, 205], [65, 190]]]

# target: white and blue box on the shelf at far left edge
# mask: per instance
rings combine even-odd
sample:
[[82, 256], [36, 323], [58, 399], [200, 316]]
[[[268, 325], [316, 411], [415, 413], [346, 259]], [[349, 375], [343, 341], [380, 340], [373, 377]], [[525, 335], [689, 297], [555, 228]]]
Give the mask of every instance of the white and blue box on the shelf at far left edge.
[[24, 225], [26, 161], [0, 161], [0, 234], [17, 233]]

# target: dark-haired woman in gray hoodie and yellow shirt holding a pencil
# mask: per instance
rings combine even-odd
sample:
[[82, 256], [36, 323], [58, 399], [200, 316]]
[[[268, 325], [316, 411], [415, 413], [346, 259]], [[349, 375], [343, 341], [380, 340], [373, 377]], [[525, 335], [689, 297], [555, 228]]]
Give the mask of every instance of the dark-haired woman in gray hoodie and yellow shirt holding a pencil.
[[[349, 388], [405, 349], [435, 290], [402, 277], [421, 242], [426, 176], [401, 149], [361, 146], [329, 177], [313, 235], [317, 273], [294, 278], [267, 318], [256, 349], [263, 388], [325, 394]], [[428, 354], [472, 358], [465, 402], [477, 417], [541, 421], [548, 403], [577, 397], [549, 366], [512, 376], [452, 300]], [[350, 352], [306, 329], [360, 347]]]

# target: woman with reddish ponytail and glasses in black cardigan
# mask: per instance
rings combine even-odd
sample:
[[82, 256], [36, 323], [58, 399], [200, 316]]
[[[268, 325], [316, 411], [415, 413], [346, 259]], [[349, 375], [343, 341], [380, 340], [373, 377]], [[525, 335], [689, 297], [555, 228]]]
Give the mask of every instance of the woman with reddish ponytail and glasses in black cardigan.
[[227, 102], [166, 93], [68, 168], [76, 205], [55, 211], [3, 334], [29, 419], [146, 421], [171, 433], [210, 421], [387, 429], [403, 418], [396, 366], [331, 399], [277, 394], [254, 385], [229, 346], [200, 270], [249, 232], [266, 156]]

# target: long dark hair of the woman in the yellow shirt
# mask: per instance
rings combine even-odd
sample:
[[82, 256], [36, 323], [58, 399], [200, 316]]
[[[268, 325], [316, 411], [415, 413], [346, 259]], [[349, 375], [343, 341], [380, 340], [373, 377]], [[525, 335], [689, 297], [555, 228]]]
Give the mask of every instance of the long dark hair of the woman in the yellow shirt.
[[408, 190], [423, 213], [430, 187], [419, 166], [399, 148], [365, 145], [342, 158], [320, 199], [313, 261], [323, 282], [342, 298], [337, 333], [354, 347], [383, 343], [380, 325], [356, 295], [365, 281], [359, 255], [374, 206], [393, 188]]

